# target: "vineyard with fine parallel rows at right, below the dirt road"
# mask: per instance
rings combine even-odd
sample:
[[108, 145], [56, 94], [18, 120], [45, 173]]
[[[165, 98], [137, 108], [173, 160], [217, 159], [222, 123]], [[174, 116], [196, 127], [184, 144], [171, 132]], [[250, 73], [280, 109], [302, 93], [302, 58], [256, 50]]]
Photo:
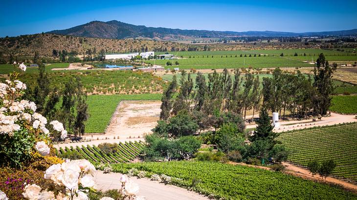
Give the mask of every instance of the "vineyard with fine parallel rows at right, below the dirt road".
[[288, 160], [306, 166], [310, 160], [332, 159], [337, 164], [333, 177], [357, 183], [357, 123], [289, 131], [278, 140], [290, 149]]

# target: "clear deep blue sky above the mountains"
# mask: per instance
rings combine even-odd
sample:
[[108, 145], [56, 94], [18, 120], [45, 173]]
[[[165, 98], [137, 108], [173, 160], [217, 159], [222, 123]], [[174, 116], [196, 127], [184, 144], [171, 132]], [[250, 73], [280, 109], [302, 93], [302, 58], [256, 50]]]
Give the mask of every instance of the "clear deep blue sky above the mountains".
[[217, 31], [316, 32], [357, 28], [357, 0], [1, 0], [0, 37], [92, 20]]

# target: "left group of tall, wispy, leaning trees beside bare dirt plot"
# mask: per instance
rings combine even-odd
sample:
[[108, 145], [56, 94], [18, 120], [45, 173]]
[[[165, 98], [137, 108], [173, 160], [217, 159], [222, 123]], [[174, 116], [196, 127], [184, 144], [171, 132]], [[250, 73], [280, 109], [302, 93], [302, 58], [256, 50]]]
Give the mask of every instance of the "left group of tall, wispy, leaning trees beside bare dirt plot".
[[251, 73], [241, 75], [239, 69], [234, 71], [232, 78], [227, 69], [223, 73], [214, 71], [206, 77], [199, 72], [196, 77], [196, 86], [191, 75], [181, 72], [180, 87], [175, 100], [173, 95], [177, 92], [177, 79], [173, 81], [164, 92], [161, 104], [161, 120], [167, 120], [170, 115], [176, 115], [182, 110], [201, 111], [207, 115], [222, 111], [243, 114], [250, 109], [257, 110], [261, 101], [259, 77]]

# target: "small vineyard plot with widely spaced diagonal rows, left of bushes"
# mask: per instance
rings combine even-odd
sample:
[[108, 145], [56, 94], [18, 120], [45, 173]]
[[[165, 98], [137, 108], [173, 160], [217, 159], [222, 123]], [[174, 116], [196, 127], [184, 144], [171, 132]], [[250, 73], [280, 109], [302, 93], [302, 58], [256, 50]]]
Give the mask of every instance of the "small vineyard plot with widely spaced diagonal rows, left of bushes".
[[58, 151], [58, 156], [61, 158], [73, 158], [75, 156], [76, 159], [87, 159], [91, 163], [124, 163], [137, 158], [144, 144], [137, 141], [120, 142], [117, 147], [115, 153], [105, 153], [95, 145], [71, 146], [65, 149], [61, 147]]

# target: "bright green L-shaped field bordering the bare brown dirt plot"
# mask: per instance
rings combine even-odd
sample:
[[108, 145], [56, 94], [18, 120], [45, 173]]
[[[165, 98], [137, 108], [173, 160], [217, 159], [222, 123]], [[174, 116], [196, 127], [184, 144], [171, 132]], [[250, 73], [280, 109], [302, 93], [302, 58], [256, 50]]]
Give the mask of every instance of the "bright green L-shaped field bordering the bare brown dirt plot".
[[103, 133], [121, 100], [160, 100], [161, 94], [90, 95], [87, 99], [89, 119], [86, 133]]

